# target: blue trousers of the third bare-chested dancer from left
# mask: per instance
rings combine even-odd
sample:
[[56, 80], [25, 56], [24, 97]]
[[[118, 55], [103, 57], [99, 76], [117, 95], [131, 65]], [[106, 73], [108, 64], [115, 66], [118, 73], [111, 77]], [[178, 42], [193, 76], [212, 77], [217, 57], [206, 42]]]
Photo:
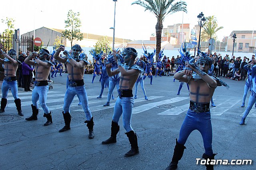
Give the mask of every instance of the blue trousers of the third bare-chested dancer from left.
[[64, 97], [64, 113], [70, 113], [70, 105], [75, 97], [77, 95], [78, 99], [81, 101], [84, 113], [86, 116], [86, 120], [90, 121], [92, 119], [92, 113], [90, 111], [89, 105], [88, 105], [88, 97], [85, 90], [84, 85], [71, 87], [68, 86], [68, 89], [65, 93]]

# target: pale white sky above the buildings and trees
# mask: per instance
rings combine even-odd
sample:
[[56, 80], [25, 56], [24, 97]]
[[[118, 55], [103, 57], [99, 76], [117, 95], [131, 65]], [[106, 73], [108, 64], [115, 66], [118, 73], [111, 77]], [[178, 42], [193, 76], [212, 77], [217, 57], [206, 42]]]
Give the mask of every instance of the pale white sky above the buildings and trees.
[[[139, 5], [131, 5], [135, 0], [118, 0], [116, 2], [116, 38], [129, 40], [149, 40], [155, 33], [156, 17]], [[218, 40], [229, 36], [233, 30], [256, 30], [255, 0], [184, 0], [187, 3], [187, 13], [176, 12], [167, 16], [163, 22], [168, 25], [181, 24], [182, 14], [184, 24], [198, 24], [198, 14], [215, 16], [218, 26], [224, 28], [217, 32]], [[36, 3], [35, 3], [36, 2]], [[68, 2], [71, 2], [68, 4]], [[175, 1], [177, 2], [177, 0]], [[65, 20], [69, 10], [80, 12], [82, 22], [81, 32], [102, 36], [113, 36], [114, 26], [113, 0], [12, 0], [0, 10], [0, 19], [14, 18], [15, 29], [24, 34], [41, 27], [65, 30]], [[0, 32], [6, 29], [6, 24], [0, 22]]]

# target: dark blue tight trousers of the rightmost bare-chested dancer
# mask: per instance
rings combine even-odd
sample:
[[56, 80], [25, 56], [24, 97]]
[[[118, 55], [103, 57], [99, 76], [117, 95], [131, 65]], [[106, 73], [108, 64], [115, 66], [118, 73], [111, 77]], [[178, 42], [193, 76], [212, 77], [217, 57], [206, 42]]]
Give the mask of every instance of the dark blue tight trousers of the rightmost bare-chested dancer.
[[198, 130], [201, 133], [204, 141], [205, 154], [212, 156], [212, 122], [210, 111], [196, 113], [188, 109], [180, 128], [178, 143], [184, 145], [193, 130]]

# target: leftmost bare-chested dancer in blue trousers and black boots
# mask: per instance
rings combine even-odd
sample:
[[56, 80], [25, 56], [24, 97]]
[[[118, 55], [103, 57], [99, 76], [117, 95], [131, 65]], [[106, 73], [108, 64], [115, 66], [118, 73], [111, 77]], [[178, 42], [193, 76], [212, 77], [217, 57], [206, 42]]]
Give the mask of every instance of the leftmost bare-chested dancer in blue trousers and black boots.
[[15, 60], [16, 51], [14, 49], [10, 49], [6, 54], [3, 50], [3, 45], [0, 44], [0, 54], [4, 56], [4, 59], [0, 58], [0, 63], [4, 66], [4, 81], [2, 83], [2, 99], [1, 99], [1, 108], [0, 113], [4, 112], [4, 109], [7, 104], [7, 95], [9, 90], [12, 92], [12, 96], [14, 98], [14, 103], [16, 105], [16, 109], [18, 111], [18, 115], [24, 116], [21, 110], [21, 101], [18, 96], [18, 85], [16, 78], [16, 71], [18, 69], [18, 65], [22, 64], [20, 61]]

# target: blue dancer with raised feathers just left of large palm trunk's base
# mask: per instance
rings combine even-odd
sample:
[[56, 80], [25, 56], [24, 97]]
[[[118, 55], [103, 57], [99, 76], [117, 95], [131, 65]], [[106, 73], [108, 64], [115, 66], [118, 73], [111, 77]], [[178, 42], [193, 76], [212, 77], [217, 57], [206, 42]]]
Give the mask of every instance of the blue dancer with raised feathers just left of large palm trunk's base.
[[145, 74], [143, 76], [143, 80], [145, 80], [147, 75], [149, 75], [150, 84], [152, 85], [153, 76], [152, 76], [151, 70], [152, 70], [152, 65], [156, 64], [156, 63], [153, 63], [153, 57], [156, 54], [156, 49], [154, 49], [154, 52], [152, 52], [152, 53], [147, 52], [145, 45], [144, 45], [144, 47], [142, 46], [142, 49], [144, 51], [143, 55], [147, 58], [147, 61], [148, 61], [146, 63], [146, 69], [145, 69]]

